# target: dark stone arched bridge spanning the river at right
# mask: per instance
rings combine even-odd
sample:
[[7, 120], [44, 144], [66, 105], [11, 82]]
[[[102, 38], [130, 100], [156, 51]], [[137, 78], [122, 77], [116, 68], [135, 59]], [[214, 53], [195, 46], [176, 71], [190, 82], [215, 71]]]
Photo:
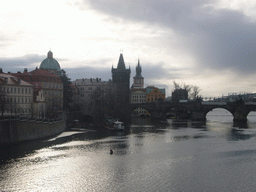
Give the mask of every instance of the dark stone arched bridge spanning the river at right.
[[247, 115], [256, 110], [256, 103], [244, 103], [242, 100], [236, 102], [157, 102], [131, 104], [131, 110], [136, 108], [146, 109], [153, 118], [165, 119], [171, 109], [183, 108], [190, 113], [191, 120], [205, 121], [209, 111], [223, 108], [233, 115], [234, 122], [246, 122]]

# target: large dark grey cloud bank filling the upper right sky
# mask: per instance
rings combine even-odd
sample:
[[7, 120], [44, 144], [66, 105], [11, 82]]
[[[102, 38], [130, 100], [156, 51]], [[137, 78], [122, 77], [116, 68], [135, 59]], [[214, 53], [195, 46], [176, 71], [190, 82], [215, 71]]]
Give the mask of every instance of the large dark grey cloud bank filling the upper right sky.
[[[217, 0], [84, 0], [97, 11], [126, 21], [172, 29], [198, 69], [256, 72], [256, 25], [237, 10], [215, 9]], [[123, 21], [122, 21], [123, 22]]]

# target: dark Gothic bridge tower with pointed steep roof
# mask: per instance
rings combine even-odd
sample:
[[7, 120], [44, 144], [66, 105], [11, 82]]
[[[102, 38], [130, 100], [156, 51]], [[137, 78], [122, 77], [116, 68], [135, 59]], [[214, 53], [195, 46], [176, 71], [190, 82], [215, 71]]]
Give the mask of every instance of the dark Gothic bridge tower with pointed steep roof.
[[112, 66], [112, 81], [116, 85], [116, 116], [126, 119], [130, 114], [130, 74], [131, 69], [126, 69], [123, 54], [120, 54], [117, 68]]

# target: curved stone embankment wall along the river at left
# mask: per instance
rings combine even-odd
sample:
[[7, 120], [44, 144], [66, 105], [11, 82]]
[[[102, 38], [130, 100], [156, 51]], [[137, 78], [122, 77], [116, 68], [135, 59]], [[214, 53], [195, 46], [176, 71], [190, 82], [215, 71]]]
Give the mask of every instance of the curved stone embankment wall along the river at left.
[[54, 122], [2, 120], [0, 121], [0, 145], [52, 136], [61, 133], [65, 128], [64, 120]]

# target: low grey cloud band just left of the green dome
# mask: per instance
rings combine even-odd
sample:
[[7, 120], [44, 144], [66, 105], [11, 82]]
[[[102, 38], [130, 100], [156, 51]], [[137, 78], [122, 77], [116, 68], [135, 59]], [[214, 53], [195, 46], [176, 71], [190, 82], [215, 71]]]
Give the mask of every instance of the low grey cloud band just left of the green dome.
[[4, 72], [23, 71], [24, 68], [28, 68], [28, 70], [33, 70], [36, 66], [39, 67], [40, 63], [45, 58], [46, 56], [41, 56], [37, 54], [13, 58], [2, 57], [0, 58], [0, 68], [2, 68]]

